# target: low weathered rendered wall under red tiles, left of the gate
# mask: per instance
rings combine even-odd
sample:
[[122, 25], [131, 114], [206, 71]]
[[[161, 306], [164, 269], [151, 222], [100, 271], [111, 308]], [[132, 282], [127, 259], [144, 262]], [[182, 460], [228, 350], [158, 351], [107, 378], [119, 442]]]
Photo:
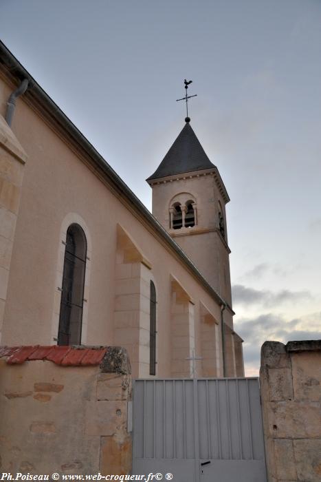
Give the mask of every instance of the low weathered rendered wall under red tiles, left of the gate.
[[[23, 363], [0, 359], [1, 471], [130, 473], [131, 370], [126, 350], [107, 348], [102, 362], [90, 365], [95, 348], [85, 348], [89, 353], [82, 362], [79, 353], [73, 353], [80, 349], [73, 348], [61, 362], [59, 348], [70, 348], [55, 348], [54, 357], [35, 355], [38, 359], [31, 356]], [[37, 353], [47, 349], [38, 347]]]

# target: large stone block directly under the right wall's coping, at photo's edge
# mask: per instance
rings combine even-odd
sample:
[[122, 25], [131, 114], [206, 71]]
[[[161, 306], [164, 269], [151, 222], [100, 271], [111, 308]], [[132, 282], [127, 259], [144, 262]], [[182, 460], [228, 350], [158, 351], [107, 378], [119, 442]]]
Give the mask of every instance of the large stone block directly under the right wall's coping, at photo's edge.
[[321, 400], [320, 359], [318, 352], [292, 353], [295, 399]]

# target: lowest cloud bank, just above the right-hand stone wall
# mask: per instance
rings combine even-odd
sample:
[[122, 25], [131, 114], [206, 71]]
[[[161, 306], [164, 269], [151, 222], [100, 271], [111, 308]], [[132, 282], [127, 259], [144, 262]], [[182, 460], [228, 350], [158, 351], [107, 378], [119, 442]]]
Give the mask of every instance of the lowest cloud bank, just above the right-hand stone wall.
[[244, 339], [245, 375], [257, 376], [261, 346], [266, 340], [287, 343], [305, 339], [321, 339], [321, 311], [287, 320], [283, 315], [265, 313], [254, 318], [241, 318], [235, 324]]

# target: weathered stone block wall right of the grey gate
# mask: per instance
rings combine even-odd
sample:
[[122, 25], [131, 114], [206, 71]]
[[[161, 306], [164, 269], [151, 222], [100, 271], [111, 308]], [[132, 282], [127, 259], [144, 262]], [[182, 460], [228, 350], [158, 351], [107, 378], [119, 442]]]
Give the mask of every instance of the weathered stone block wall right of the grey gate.
[[260, 380], [269, 482], [320, 482], [321, 341], [265, 342]]

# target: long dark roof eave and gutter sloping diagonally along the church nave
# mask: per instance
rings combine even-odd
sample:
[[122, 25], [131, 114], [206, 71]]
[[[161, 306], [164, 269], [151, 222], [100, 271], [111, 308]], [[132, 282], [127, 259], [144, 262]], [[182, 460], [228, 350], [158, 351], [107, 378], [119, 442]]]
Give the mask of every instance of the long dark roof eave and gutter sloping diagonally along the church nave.
[[[54, 118], [60, 129], [63, 132], [67, 132], [69, 136], [74, 140], [77, 145], [80, 145], [82, 149], [86, 152], [86, 154], [93, 160], [96, 166], [100, 168], [102, 173], [107, 176], [109, 181], [112, 183], [115, 191], [118, 191], [120, 194], [124, 196], [131, 205], [133, 205], [138, 211], [150, 224], [150, 226], [155, 230], [168, 244], [168, 246], [177, 253], [179, 258], [188, 266], [189, 270], [192, 272], [197, 280], [203, 285], [203, 287], [208, 291], [208, 293], [216, 300], [220, 305], [224, 304], [228, 307], [230, 313], [234, 315], [234, 311], [232, 307], [223, 300], [223, 298], [217, 293], [217, 291], [210, 286], [208, 281], [203, 277], [199, 269], [192, 263], [190, 258], [184, 253], [184, 251], [179, 247], [179, 245], [170, 237], [170, 235], [165, 231], [161, 224], [154, 218], [150, 211], [142, 204], [142, 202], [135, 196], [133, 191], [129, 189], [129, 187], [124, 183], [124, 181], [115, 173], [113, 168], [107, 164], [106, 160], [96, 149], [89, 143], [89, 140], [83, 136], [83, 134], [77, 129], [77, 127], [70, 121], [70, 119], [63, 113], [62, 110], [54, 103], [52, 98], [50, 98], [45, 91], [36, 83], [34, 78], [25, 70], [25, 68], [19, 63], [19, 61], [12, 55], [10, 50], [5, 47], [5, 45], [0, 41], [0, 62], [3, 63], [7, 70], [9, 70], [10, 74], [14, 78], [27, 79], [29, 82], [30, 88], [27, 90], [25, 94], [25, 98], [30, 101], [36, 102], [39, 107], [41, 107], [41, 111], [43, 113], [49, 114], [51, 118]], [[1, 67], [0, 63], [0, 67]]]

